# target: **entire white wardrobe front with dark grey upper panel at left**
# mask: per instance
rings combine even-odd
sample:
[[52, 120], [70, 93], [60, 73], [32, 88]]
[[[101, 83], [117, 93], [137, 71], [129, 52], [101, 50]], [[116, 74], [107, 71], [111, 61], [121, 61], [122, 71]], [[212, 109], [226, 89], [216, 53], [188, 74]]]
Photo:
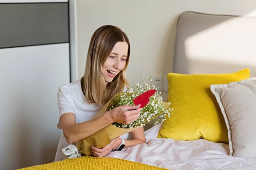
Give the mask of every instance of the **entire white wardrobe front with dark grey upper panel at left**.
[[0, 0], [0, 170], [54, 161], [57, 91], [70, 82], [67, 2]]

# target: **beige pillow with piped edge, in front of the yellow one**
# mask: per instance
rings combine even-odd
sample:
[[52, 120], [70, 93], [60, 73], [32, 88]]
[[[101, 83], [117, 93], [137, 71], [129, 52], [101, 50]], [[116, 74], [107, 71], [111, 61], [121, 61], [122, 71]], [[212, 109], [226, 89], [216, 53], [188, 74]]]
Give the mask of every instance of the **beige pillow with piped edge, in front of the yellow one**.
[[227, 125], [230, 156], [256, 158], [256, 77], [210, 89]]

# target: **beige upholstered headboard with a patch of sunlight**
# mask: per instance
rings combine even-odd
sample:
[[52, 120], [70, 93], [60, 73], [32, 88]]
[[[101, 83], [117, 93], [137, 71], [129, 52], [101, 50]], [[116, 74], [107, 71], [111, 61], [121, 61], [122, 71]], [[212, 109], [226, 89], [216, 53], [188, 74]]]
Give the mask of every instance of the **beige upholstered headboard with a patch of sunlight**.
[[173, 72], [216, 74], [250, 68], [256, 77], [256, 17], [186, 11], [177, 22]]

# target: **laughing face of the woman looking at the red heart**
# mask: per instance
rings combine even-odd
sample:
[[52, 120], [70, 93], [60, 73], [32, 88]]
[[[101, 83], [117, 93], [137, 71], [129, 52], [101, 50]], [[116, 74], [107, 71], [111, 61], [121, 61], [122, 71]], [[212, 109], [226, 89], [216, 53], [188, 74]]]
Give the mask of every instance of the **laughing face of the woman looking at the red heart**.
[[105, 74], [106, 82], [111, 82], [113, 78], [125, 68], [128, 55], [128, 43], [117, 42], [108, 59], [103, 64], [103, 74]]

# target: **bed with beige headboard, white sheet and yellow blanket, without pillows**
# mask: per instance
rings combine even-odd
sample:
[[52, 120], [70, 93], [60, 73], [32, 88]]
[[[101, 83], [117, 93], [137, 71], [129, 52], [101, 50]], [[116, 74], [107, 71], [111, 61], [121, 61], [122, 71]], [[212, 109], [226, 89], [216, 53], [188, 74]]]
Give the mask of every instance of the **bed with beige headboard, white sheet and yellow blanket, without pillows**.
[[[256, 76], [256, 18], [230, 15], [201, 14], [186, 11], [179, 17], [173, 59], [173, 73], [219, 74], [250, 68], [250, 76]], [[127, 169], [166, 168], [171, 170], [254, 170], [256, 158], [230, 156], [230, 146], [224, 142], [206, 139], [175, 140], [159, 138], [163, 123], [145, 131], [146, 144], [125, 148], [97, 158], [113, 164], [125, 161]], [[58, 164], [82, 164], [88, 157], [60, 161]], [[97, 160], [98, 161], [98, 160]], [[126, 162], [130, 161], [130, 162]], [[90, 161], [87, 167], [93, 169]], [[139, 163], [139, 165], [132, 165]], [[124, 163], [123, 163], [124, 164]], [[50, 169], [56, 163], [42, 165], [39, 169]], [[148, 166], [148, 167], [147, 167]], [[151, 167], [152, 166], [152, 167]], [[75, 167], [74, 167], [75, 168]], [[76, 167], [78, 168], [78, 167]], [[96, 167], [94, 167], [96, 168]], [[122, 167], [117, 167], [117, 169]], [[58, 169], [58, 168], [55, 168]], [[71, 168], [72, 169], [72, 168]], [[79, 169], [79, 168], [78, 168]], [[25, 170], [25, 169], [24, 169]]]

